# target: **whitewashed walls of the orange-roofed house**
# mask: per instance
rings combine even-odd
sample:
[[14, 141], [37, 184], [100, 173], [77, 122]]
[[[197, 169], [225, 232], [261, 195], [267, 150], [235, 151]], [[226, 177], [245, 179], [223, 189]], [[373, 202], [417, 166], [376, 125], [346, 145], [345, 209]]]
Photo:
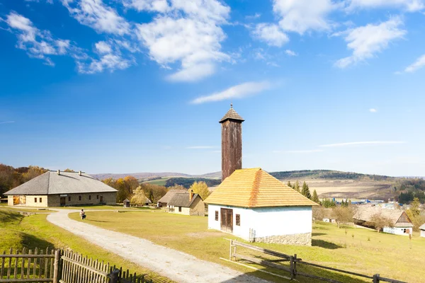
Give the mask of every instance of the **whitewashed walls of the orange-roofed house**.
[[[233, 209], [233, 234], [249, 240], [249, 229], [255, 230], [255, 237], [291, 235], [312, 232], [311, 207], [263, 207], [247, 209], [208, 205], [208, 229], [220, 230], [220, 208]], [[215, 211], [218, 221], [215, 221]], [[235, 214], [240, 214], [241, 225], [236, 225]]]

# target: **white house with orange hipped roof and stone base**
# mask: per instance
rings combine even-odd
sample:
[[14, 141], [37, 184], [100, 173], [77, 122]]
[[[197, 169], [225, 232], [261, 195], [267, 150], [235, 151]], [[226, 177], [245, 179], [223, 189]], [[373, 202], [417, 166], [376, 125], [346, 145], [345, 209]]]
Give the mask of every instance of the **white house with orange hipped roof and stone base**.
[[209, 229], [247, 241], [311, 246], [317, 204], [261, 168], [234, 171], [205, 203]]

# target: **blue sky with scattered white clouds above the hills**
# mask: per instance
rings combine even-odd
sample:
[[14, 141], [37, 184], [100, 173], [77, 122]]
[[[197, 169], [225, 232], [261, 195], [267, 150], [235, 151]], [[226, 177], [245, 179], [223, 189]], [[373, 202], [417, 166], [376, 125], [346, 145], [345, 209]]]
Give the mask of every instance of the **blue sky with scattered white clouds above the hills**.
[[425, 175], [425, 0], [0, 0], [0, 162]]

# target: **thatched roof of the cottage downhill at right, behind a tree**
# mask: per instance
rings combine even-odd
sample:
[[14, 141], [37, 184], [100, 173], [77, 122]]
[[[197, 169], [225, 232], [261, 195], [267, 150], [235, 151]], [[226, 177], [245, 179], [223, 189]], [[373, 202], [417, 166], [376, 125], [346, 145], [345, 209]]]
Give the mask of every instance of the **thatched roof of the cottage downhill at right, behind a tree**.
[[409, 216], [407, 216], [404, 210], [385, 209], [378, 206], [361, 205], [358, 207], [353, 219], [371, 222], [373, 216], [376, 214], [389, 219], [395, 227], [413, 227], [412, 220], [409, 219]]

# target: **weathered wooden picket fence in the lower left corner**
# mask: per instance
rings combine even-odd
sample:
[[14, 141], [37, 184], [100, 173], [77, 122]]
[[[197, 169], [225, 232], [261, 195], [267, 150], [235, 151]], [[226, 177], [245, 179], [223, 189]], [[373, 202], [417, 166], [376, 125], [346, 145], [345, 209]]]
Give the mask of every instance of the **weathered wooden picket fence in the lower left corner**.
[[0, 255], [0, 283], [152, 283], [144, 275], [123, 271], [109, 263], [84, 257], [72, 250], [43, 250], [34, 253], [23, 248]]

